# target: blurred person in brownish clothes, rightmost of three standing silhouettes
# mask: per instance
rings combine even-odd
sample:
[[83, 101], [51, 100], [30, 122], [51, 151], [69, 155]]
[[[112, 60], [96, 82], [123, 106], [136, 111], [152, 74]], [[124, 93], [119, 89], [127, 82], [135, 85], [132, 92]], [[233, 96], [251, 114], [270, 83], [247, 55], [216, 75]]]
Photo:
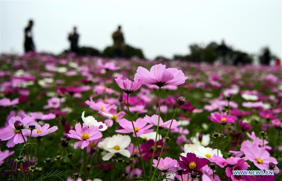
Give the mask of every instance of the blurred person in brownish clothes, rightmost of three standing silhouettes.
[[124, 48], [124, 38], [121, 32], [121, 26], [119, 26], [117, 31], [113, 33], [112, 37], [114, 40], [114, 45], [113, 45], [114, 57], [121, 57]]

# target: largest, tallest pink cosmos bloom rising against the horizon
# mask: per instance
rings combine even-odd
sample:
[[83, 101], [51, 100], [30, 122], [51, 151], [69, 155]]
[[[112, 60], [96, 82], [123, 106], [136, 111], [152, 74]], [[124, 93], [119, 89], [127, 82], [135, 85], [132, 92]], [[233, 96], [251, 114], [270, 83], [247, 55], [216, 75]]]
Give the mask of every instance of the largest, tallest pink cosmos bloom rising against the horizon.
[[165, 85], [183, 84], [187, 78], [181, 70], [177, 68], [166, 68], [165, 65], [160, 63], [152, 66], [150, 72], [146, 68], [138, 67], [134, 81], [141, 79], [143, 84], [162, 87]]

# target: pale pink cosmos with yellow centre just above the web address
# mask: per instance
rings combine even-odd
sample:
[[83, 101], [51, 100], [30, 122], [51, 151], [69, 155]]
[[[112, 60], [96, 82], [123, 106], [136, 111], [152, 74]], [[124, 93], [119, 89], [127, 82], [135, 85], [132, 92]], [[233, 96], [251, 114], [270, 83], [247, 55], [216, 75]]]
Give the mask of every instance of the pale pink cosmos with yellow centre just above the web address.
[[259, 147], [257, 144], [253, 144], [251, 148], [243, 147], [241, 150], [245, 153], [247, 159], [261, 170], [269, 170], [269, 163], [278, 164], [275, 158], [270, 157], [266, 149]]

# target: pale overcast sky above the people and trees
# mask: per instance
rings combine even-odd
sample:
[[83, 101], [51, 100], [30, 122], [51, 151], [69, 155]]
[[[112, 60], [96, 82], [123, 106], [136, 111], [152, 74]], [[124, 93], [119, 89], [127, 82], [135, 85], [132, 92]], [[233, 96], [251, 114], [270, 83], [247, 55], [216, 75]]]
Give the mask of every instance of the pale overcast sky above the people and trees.
[[102, 50], [120, 24], [126, 43], [147, 58], [187, 54], [191, 43], [221, 39], [248, 53], [269, 46], [281, 58], [281, 1], [1, 1], [1, 53], [23, 53], [30, 18], [38, 51], [69, 48], [73, 26], [80, 46]]

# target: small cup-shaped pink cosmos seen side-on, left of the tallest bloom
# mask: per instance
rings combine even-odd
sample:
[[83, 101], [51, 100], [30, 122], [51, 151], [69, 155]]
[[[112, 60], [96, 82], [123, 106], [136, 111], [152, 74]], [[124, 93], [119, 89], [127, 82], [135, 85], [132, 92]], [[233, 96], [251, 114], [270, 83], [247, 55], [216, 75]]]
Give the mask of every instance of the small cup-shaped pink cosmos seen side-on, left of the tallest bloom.
[[142, 80], [139, 79], [137, 81], [131, 81], [128, 78], [125, 80], [122, 80], [122, 75], [115, 78], [115, 82], [118, 84], [118, 86], [127, 94], [134, 93], [136, 90], [138, 90], [142, 86]]

